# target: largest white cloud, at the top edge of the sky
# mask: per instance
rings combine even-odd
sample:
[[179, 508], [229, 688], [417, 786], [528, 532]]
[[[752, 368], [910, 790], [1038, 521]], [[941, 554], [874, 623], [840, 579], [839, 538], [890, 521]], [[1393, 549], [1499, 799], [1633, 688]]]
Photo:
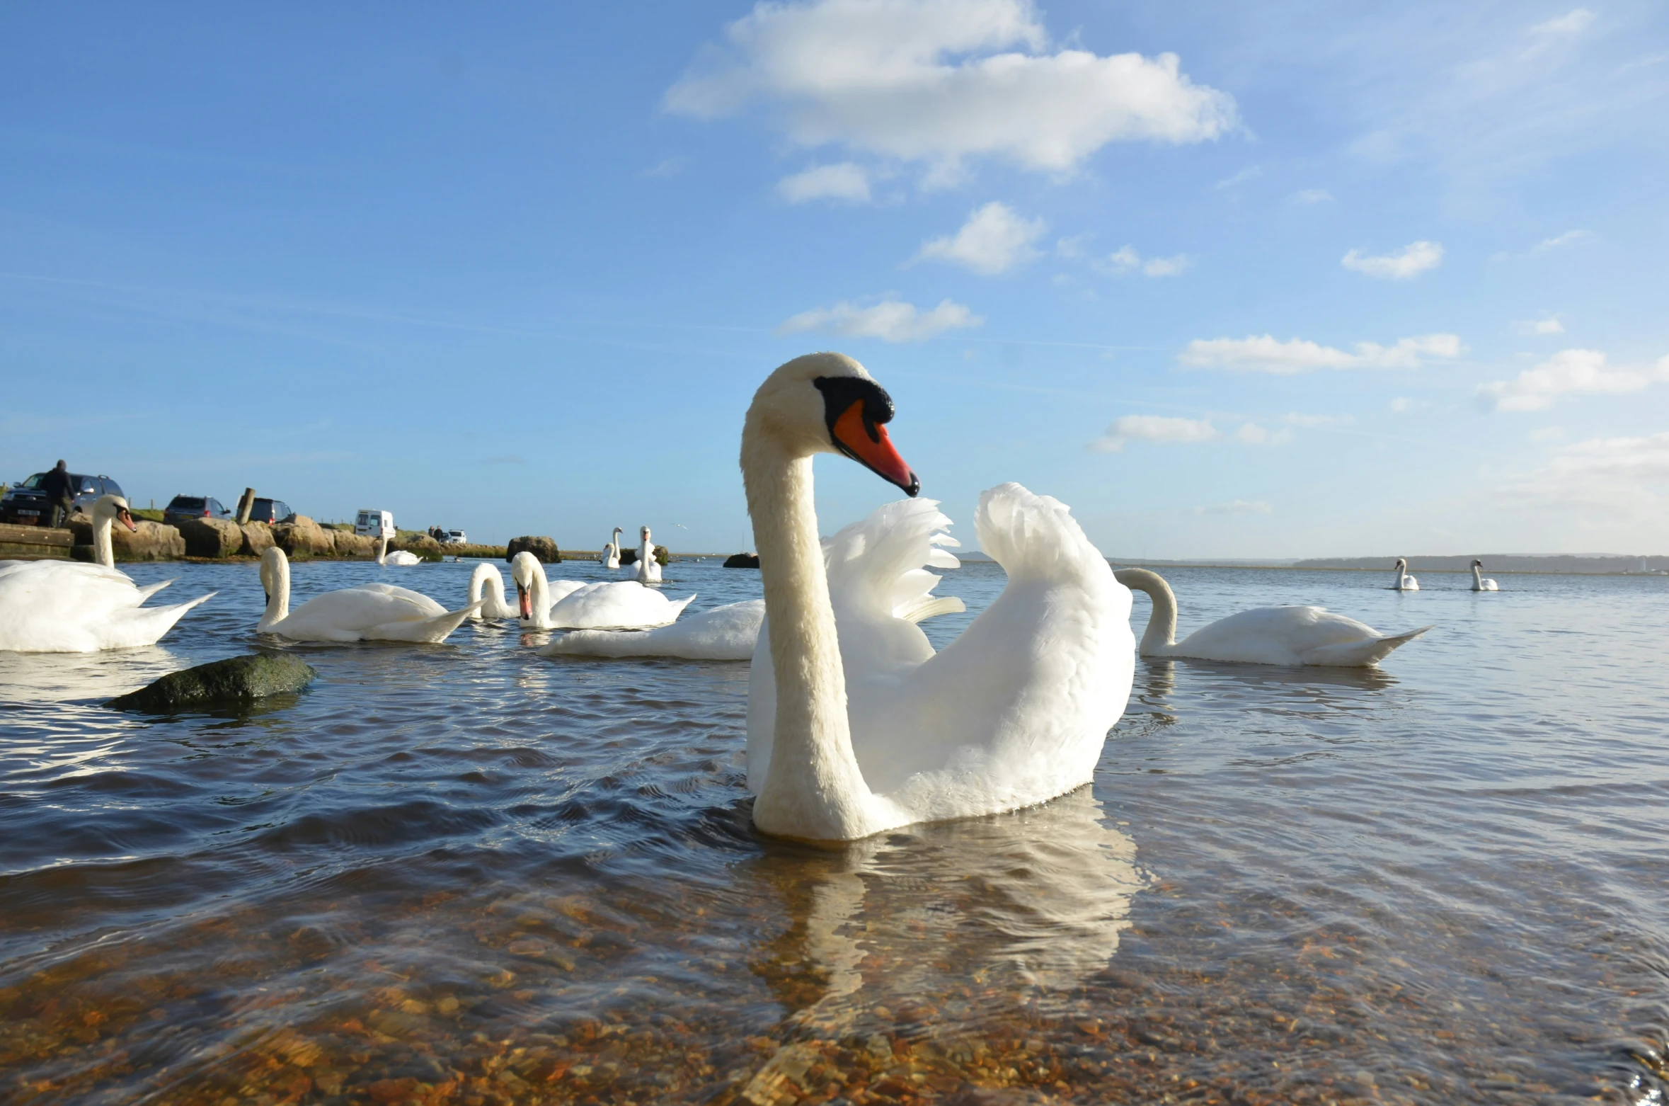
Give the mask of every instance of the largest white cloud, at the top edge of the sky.
[[799, 145], [923, 162], [940, 180], [970, 157], [1065, 172], [1110, 142], [1237, 124], [1233, 97], [1195, 85], [1175, 53], [1050, 53], [1030, 0], [759, 0], [724, 38], [668, 89], [668, 110], [763, 102]]

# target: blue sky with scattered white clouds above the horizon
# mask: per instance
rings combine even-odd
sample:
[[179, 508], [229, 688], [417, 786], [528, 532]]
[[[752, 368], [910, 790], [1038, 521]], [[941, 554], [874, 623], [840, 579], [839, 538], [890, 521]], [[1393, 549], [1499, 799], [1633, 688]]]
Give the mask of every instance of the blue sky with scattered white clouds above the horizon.
[[729, 551], [841, 349], [968, 541], [1669, 550], [1669, 10], [1380, 7], [5, 5], [0, 476]]

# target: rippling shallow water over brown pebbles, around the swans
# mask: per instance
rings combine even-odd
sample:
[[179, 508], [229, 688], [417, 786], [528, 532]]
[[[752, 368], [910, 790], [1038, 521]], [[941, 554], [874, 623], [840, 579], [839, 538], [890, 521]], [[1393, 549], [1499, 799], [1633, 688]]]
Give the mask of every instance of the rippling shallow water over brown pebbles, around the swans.
[[[297, 565], [297, 600], [469, 568]], [[132, 575], [220, 595], [160, 648], [0, 655], [0, 1101], [1669, 1091], [1669, 580], [1173, 570], [1183, 633], [1435, 628], [1382, 672], [1138, 663], [1093, 787], [818, 852], [749, 827], [746, 665], [466, 625], [295, 647], [319, 682], [259, 713], [117, 715], [262, 603], [252, 565]], [[930, 635], [1000, 588], [946, 573]]]

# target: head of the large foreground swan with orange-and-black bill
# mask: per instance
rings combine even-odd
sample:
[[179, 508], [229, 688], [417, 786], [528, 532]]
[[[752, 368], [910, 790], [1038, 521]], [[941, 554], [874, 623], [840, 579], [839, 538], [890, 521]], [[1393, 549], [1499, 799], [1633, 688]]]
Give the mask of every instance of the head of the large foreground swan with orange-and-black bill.
[[861, 364], [840, 353], [814, 353], [778, 368], [748, 408], [748, 433], [769, 436], [791, 454], [845, 453], [905, 490], [921, 491], [886, 434], [893, 398]]

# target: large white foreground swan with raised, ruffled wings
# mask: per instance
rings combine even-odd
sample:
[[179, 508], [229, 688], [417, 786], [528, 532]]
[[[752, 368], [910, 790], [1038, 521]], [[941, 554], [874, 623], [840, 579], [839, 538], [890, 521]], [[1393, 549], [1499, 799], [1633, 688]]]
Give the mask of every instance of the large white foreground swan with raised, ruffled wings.
[[[893, 615], [891, 590], [850, 596], [836, 625], [811, 458], [845, 453], [915, 495], [883, 426], [891, 414], [841, 354], [789, 361], [748, 408], [741, 469], [768, 610], [749, 673], [748, 785], [768, 834], [855, 840], [1053, 799], [1092, 779], [1130, 697], [1130, 591], [1065, 505], [1020, 485], [981, 495], [975, 518], [1008, 586], [941, 653]], [[905, 518], [936, 528], [940, 516]], [[920, 565], [930, 545], [906, 530], [886, 558]]]

